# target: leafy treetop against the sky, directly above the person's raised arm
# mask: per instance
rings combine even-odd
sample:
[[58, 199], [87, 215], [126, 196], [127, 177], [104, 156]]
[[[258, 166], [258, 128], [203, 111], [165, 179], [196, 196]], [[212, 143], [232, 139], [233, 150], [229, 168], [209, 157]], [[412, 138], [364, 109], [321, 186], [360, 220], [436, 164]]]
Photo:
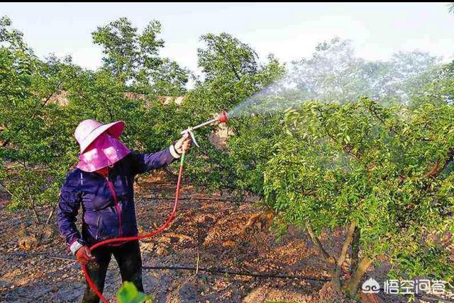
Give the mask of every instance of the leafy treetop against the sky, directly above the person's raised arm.
[[[188, 72], [174, 61], [159, 57], [164, 40], [157, 38], [161, 23], [150, 21], [142, 33], [127, 18], [118, 18], [92, 33], [93, 42], [103, 47], [104, 68], [135, 91], [160, 96], [179, 96], [186, 91]], [[131, 89], [130, 88], [130, 89]]]

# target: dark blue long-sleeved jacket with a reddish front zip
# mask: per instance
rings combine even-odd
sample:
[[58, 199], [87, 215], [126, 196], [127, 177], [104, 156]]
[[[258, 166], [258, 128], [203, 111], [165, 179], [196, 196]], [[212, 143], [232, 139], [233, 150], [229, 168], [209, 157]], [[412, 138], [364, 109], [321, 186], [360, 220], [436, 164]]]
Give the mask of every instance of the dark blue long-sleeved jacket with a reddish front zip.
[[[62, 186], [57, 207], [60, 233], [68, 245], [92, 246], [104, 239], [138, 234], [134, 209], [134, 176], [160, 168], [175, 160], [172, 147], [155, 154], [131, 152], [114, 164], [105, 178], [100, 173], [75, 168]], [[76, 216], [82, 205], [82, 235], [76, 227]], [[74, 251], [73, 251], [74, 253]]]

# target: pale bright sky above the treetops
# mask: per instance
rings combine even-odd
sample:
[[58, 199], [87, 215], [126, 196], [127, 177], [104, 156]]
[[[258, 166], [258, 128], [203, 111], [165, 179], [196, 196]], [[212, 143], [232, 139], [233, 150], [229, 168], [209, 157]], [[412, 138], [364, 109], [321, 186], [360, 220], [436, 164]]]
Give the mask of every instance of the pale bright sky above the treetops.
[[454, 59], [454, 15], [443, 3], [2, 3], [0, 16], [24, 33], [39, 57], [71, 55], [89, 69], [102, 52], [91, 33], [119, 17], [139, 30], [162, 23], [160, 52], [196, 74], [197, 47], [206, 33], [230, 33], [258, 55], [282, 62], [309, 57], [317, 43], [353, 40], [357, 55], [386, 60], [393, 52], [422, 50]]

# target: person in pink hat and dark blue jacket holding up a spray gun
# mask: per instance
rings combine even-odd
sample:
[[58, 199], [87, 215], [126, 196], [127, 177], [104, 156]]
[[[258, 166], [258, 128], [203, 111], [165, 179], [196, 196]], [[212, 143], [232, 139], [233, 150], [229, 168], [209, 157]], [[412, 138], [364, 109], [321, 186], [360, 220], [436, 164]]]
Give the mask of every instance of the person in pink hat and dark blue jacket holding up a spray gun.
[[[112, 255], [118, 263], [121, 280], [133, 282], [143, 292], [142, 258], [137, 240], [112, 242], [94, 251], [89, 247], [108, 239], [138, 236], [134, 177], [184, 158], [192, 143], [189, 132], [185, 132], [167, 149], [139, 154], [118, 139], [124, 127], [123, 121], [106, 125], [96, 120], [80, 122], [74, 132], [80, 147], [79, 164], [67, 174], [57, 206], [60, 233], [101, 293]], [[76, 217], [81, 206], [82, 232], [79, 232]], [[87, 285], [82, 302], [99, 302], [93, 287]]]

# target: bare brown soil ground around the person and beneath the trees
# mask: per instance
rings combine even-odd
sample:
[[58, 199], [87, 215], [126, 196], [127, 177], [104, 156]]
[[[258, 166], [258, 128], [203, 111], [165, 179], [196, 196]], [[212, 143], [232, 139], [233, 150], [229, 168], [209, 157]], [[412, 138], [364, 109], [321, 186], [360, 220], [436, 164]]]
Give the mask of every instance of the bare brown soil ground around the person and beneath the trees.
[[[173, 206], [175, 183], [160, 177], [143, 178], [136, 186], [136, 212], [140, 232], [165, 221]], [[3, 198], [3, 200], [1, 199]], [[0, 302], [80, 302], [84, 277], [57, 231], [55, 216], [49, 227], [36, 228], [29, 212], [12, 214], [0, 197]], [[271, 216], [254, 206], [254, 199], [233, 202], [226, 193], [206, 194], [191, 186], [182, 188], [175, 221], [162, 234], [140, 243], [143, 265], [227, 268], [244, 273], [271, 273], [328, 278], [308, 236], [298, 229], [276, 241], [270, 231]], [[49, 214], [52, 209], [39, 211]], [[80, 222], [80, 221], [79, 221]], [[333, 238], [323, 242], [328, 251], [340, 251]], [[33, 253], [33, 256], [18, 256]], [[43, 253], [39, 255], [39, 253]], [[198, 262], [197, 262], [198, 261]], [[373, 269], [372, 269], [373, 270]], [[383, 280], [383, 271], [368, 277]], [[326, 282], [298, 278], [255, 278], [214, 274], [199, 270], [143, 270], [145, 292], [156, 302], [336, 302], [326, 297]], [[111, 261], [104, 294], [114, 300], [121, 285], [116, 261]], [[322, 290], [323, 287], [323, 290]], [[322, 290], [322, 291], [321, 291]], [[406, 302], [405, 298], [380, 297], [377, 302]], [[362, 302], [376, 302], [361, 295]], [[349, 300], [348, 302], [355, 302]], [[421, 301], [420, 301], [421, 302]]]

